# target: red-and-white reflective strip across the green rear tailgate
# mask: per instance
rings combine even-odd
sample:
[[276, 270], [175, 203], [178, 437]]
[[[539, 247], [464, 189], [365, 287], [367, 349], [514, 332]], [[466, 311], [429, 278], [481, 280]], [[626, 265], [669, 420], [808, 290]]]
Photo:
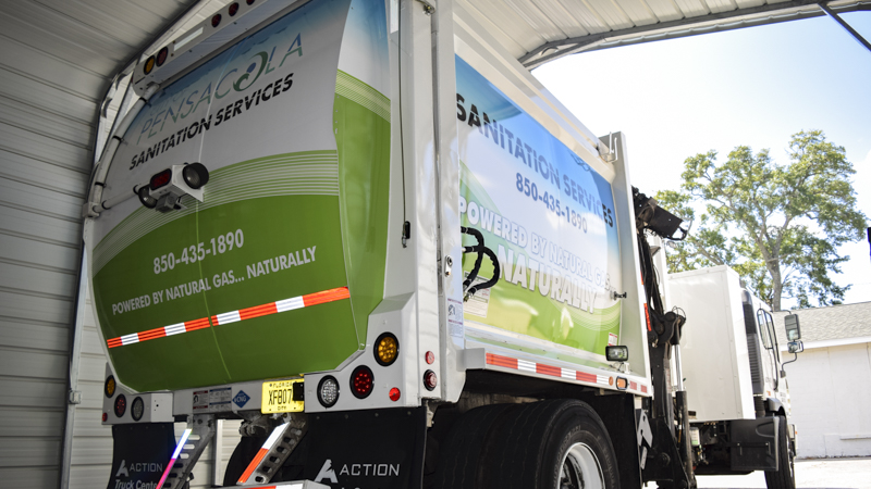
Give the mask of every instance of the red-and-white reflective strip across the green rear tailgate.
[[109, 348], [124, 347], [127, 344], [138, 343], [140, 341], [195, 331], [197, 329], [204, 329], [211, 326], [225, 325], [240, 321], [252, 319], [255, 317], [268, 316], [270, 314], [293, 311], [295, 309], [303, 309], [327, 302], [340, 301], [349, 297], [351, 293], [348, 292], [347, 287], [339, 287], [338, 289], [323, 290], [321, 292], [270, 302], [268, 304], [255, 305], [254, 308], [230, 311], [211, 317], [200, 317], [199, 319], [171, 324], [169, 326], [149, 329], [147, 331], [132, 333], [130, 335], [107, 340], [106, 343]]

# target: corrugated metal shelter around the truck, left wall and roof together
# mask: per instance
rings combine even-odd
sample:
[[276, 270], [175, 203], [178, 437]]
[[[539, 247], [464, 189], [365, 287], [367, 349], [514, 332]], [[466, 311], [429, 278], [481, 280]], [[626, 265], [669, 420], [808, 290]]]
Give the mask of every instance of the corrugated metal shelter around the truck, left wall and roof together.
[[[82, 205], [95, 152], [130, 101], [119, 74], [230, 1], [4, 2], [0, 487], [106, 484], [105, 360], [78, 280]], [[455, 9], [491, 27], [529, 68], [584, 50], [826, 14], [811, 0], [457, 0]], [[835, 1], [827, 9], [836, 16], [869, 10], [871, 1]], [[232, 431], [228, 426], [223, 460]], [[201, 463], [195, 484], [211, 485], [212, 472]]]

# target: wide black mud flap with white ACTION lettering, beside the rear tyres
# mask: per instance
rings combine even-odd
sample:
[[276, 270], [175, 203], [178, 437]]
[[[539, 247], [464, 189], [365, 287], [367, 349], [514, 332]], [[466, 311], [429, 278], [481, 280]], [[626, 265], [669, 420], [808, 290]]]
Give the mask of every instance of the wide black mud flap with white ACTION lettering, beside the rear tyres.
[[427, 410], [309, 415], [304, 478], [333, 489], [419, 488]]

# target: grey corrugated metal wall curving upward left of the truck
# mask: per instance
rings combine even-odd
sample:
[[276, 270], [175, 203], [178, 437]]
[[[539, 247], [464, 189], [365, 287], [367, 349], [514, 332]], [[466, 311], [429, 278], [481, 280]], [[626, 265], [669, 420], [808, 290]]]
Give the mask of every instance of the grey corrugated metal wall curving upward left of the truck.
[[[0, 487], [59, 485], [78, 286], [79, 213], [93, 164], [99, 104], [127, 58], [191, 3], [3, 2]], [[83, 375], [102, 377], [101, 351], [90, 347], [86, 351]], [[91, 403], [86, 398], [83, 411], [90, 410]], [[79, 426], [77, 434], [85, 440], [90, 427]], [[84, 468], [94, 460], [105, 460], [107, 453], [99, 448], [75, 455]]]

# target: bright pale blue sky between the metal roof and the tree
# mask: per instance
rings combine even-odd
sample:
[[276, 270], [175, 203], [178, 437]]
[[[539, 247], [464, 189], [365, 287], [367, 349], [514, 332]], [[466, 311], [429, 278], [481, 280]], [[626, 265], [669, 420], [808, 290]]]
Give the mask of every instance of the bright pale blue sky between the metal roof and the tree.
[[[871, 39], [871, 12], [844, 18]], [[827, 16], [581, 53], [533, 74], [594, 134], [626, 135], [646, 193], [677, 189], [690, 155], [747, 145], [787, 163], [790, 135], [822, 129], [846, 149], [871, 216], [871, 51]], [[871, 301], [868, 241], [841, 252], [844, 302]]]

